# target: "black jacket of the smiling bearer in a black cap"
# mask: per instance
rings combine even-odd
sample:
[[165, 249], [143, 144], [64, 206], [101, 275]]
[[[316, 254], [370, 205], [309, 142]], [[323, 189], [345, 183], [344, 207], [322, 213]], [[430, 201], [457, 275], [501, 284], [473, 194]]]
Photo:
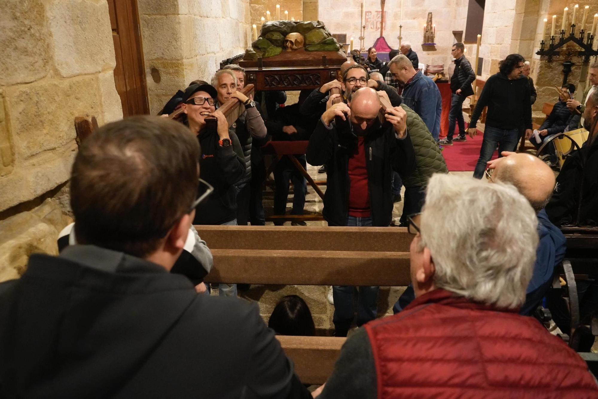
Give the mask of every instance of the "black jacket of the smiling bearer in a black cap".
[[237, 217], [234, 185], [245, 174], [245, 158], [237, 135], [231, 129], [228, 129], [228, 135], [232, 145], [226, 148], [218, 144], [220, 138], [216, 131], [204, 129], [197, 135], [202, 147], [199, 176], [210, 183], [214, 191], [197, 205], [194, 225], [221, 225]]

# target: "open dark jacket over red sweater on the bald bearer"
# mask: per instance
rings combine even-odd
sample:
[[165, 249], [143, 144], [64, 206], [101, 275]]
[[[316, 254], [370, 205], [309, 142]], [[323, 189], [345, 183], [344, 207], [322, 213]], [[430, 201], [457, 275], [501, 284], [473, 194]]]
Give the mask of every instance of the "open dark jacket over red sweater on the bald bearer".
[[[347, 125], [349, 126], [349, 125]], [[346, 226], [349, 214], [349, 156], [355, 152], [357, 136], [335, 122], [325, 126], [319, 120], [307, 145], [310, 165], [327, 165], [327, 189], [322, 214], [331, 226]], [[396, 138], [393, 126], [376, 120], [365, 136], [365, 165], [373, 226], [388, 226], [392, 220], [392, 171], [407, 176], [416, 168], [415, 152], [407, 135]]]

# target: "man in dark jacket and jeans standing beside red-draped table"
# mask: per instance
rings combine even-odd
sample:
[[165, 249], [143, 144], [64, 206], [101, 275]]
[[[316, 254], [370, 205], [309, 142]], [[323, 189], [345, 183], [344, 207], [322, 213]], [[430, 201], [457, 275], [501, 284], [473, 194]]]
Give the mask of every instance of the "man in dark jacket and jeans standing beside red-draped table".
[[[454, 72], [450, 78], [450, 111], [449, 111], [449, 132], [447, 137], [440, 140], [443, 146], [452, 146], [453, 141], [467, 141], [465, 138], [465, 120], [463, 120], [463, 101], [474, 94], [471, 83], [475, 80], [474, 68], [471, 68], [469, 60], [465, 58], [463, 43], [453, 44], [451, 55], [454, 58]], [[459, 126], [459, 135], [453, 139], [455, 123]]]

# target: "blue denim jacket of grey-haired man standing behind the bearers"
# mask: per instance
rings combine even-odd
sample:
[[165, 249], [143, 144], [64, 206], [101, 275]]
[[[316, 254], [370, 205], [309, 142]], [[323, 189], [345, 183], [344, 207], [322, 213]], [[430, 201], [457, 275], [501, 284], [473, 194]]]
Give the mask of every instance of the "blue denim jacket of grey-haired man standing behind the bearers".
[[403, 104], [418, 114], [435, 139], [440, 135], [442, 98], [434, 80], [417, 71], [402, 92]]

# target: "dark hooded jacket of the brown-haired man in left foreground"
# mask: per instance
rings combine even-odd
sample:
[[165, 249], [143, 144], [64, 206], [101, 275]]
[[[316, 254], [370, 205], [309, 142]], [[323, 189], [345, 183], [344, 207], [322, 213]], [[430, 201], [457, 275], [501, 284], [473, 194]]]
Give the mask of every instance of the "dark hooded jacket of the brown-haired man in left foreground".
[[311, 397], [256, 303], [122, 252], [32, 255], [0, 320], [0, 398]]

